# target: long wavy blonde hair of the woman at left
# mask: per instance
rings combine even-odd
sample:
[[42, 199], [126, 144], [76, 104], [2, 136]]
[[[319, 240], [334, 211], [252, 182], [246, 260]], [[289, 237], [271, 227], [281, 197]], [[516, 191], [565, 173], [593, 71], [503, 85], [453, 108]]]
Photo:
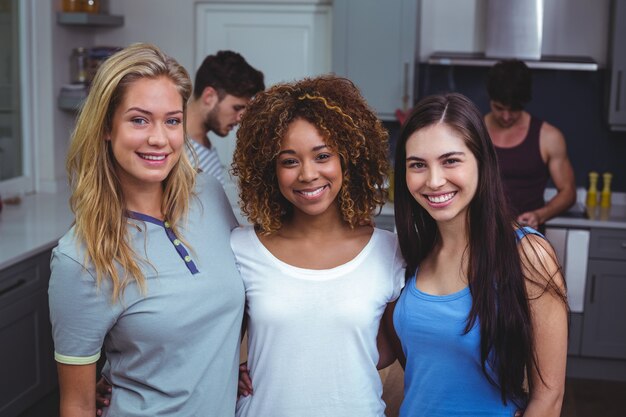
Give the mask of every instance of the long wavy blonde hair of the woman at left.
[[[130, 282], [135, 281], [142, 291], [146, 285], [137, 254], [130, 245], [125, 201], [111, 142], [105, 138], [113, 128], [113, 115], [129, 86], [142, 78], [157, 77], [167, 77], [176, 85], [185, 119], [191, 94], [187, 71], [154, 45], [132, 44], [108, 58], [96, 73], [89, 96], [79, 111], [67, 156], [75, 235], [85, 245], [86, 262], [95, 269], [97, 284], [104, 277], [111, 280], [114, 301]], [[189, 146], [186, 133], [185, 144]], [[163, 183], [161, 203], [162, 212], [176, 234], [177, 223], [189, 209], [194, 185], [195, 171], [182, 152]]]

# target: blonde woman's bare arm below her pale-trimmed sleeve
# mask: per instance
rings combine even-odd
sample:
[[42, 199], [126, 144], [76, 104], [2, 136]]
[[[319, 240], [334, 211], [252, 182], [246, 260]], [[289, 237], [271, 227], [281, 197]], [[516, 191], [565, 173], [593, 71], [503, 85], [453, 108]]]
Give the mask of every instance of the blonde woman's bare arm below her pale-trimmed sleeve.
[[59, 373], [60, 417], [96, 415], [96, 364], [57, 363]]

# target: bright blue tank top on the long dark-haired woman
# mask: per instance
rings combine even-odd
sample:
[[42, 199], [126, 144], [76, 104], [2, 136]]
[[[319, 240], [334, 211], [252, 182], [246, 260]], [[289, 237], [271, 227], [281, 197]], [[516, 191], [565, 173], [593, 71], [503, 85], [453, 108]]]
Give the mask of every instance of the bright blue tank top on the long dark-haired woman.
[[[516, 233], [518, 239], [539, 235], [531, 228]], [[464, 333], [472, 307], [469, 287], [431, 295], [417, 289], [415, 280], [409, 279], [393, 313], [406, 356], [400, 417], [513, 416], [519, 407], [510, 400], [504, 405], [500, 390], [483, 374], [479, 321]]]

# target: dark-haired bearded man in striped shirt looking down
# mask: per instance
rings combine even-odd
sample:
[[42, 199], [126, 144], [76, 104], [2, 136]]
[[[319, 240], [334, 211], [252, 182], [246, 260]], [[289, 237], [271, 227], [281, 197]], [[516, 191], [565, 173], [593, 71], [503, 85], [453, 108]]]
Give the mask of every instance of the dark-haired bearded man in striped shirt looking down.
[[241, 120], [248, 102], [264, 89], [263, 73], [233, 51], [208, 55], [196, 72], [187, 105], [187, 135], [197, 155], [196, 168], [215, 176], [222, 185], [224, 169], [208, 133], [228, 135]]

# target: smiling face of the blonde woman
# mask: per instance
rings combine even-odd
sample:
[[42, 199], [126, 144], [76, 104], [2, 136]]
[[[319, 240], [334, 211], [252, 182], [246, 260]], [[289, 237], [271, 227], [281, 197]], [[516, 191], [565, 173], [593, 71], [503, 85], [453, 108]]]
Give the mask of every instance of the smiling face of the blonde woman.
[[184, 144], [183, 99], [176, 85], [166, 77], [130, 84], [115, 110], [107, 140], [125, 192], [160, 190]]

